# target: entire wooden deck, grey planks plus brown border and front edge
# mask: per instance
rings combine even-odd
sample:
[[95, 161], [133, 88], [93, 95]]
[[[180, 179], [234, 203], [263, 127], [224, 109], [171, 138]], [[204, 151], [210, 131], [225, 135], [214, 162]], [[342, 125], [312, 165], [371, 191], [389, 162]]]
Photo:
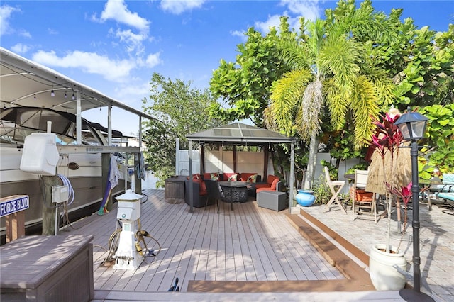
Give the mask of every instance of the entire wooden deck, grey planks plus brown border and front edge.
[[[361, 259], [367, 255], [341, 251], [288, 209], [248, 201], [234, 203], [233, 211], [221, 203], [220, 213], [215, 206], [189, 213], [184, 201], [165, 200], [164, 190], [143, 194], [142, 230], [161, 250], [138, 269], [101, 265], [118, 228], [115, 207], [60, 231], [94, 236], [93, 301], [402, 301], [398, 291], [373, 289]], [[168, 292], [177, 277], [182, 292]]]

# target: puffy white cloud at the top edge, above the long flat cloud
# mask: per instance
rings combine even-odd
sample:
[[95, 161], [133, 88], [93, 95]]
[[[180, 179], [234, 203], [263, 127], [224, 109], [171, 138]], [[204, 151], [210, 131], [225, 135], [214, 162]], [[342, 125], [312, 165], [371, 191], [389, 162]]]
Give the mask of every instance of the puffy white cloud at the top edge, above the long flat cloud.
[[142, 33], [148, 33], [148, 26], [150, 22], [138, 16], [138, 13], [132, 13], [126, 7], [123, 0], [109, 0], [104, 6], [104, 11], [101, 13], [101, 18], [96, 19], [96, 16], [92, 17], [96, 21], [105, 22], [109, 19], [123, 23], [133, 28], [137, 28]]

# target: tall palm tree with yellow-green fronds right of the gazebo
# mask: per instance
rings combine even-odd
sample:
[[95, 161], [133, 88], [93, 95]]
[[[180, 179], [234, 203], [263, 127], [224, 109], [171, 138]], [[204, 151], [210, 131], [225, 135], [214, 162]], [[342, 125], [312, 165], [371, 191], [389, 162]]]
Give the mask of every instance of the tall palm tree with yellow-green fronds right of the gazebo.
[[358, 10], [347, 5], [352, 2], [327, 10], [326, 20], [308, 21], [307, 32], [301, 18], [299, 37], [282, 33], [277, 45], [292, 71], [273, 84], [267, 114], [288, 135], [310, 141], [304, 189], [313, 179], [321, 113], [336, 130], [353, 123], [353, 144], [359, 149], [372, 135], [373, 118], [392, 102], [392, 81], [375, 66], [373, 45], [391, 40], [393, 32], [383, 13], [373, 13], [370, 1]]

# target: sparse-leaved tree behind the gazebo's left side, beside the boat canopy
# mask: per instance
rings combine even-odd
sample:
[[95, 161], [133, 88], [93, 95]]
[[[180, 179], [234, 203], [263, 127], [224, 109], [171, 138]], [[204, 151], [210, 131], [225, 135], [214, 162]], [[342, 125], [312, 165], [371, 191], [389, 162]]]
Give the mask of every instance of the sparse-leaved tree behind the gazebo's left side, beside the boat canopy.
[[191, 88], [191, 82], [165, 79], [154, 73], [150, 82], [150, 96], [143, 99], [144, 112], [156, 120], [144, 122], [143, 142], [145, 161], [157, 178], [157, 186], [175, 174], [175, 142], [188, 147], [186, 135], [219, 125], [209, 117], [209, 105], [214, 102], [210, 91]]

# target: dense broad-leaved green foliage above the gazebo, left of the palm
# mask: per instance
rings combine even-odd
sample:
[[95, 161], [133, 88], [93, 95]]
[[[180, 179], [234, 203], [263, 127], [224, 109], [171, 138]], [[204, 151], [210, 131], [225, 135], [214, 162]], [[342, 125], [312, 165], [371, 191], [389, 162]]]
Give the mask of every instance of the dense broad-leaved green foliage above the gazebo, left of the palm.
[[213, 72], [211, 92], [216, 98], [221, 97], [226, 106], [213, 103], [210, 112], [223, 121], [250, 118], [255, 125], [262, 126], [262, 113], [269, 104], [271, 84], [288, 69], [276, 55], [275, 44], [279, 37], [275, 28], [265, 37], [254, 28], [249, 28], [245, 35], [248, 40], [238, 45], [236, 62], [221, 60]]

